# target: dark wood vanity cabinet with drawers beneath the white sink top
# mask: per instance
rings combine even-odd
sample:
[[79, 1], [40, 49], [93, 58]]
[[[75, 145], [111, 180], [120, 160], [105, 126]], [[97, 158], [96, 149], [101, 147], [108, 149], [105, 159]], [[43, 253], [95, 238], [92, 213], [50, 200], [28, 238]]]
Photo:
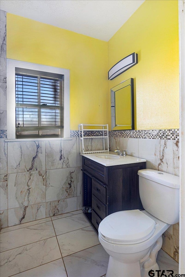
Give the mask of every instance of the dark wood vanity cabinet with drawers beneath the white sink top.
[[111, 213], [143, 209], [137, 173], [145, 168], [146, 162], [104, 166], [82, 156], [83, 206], [92, 208], [84, 214], [96, 230]]

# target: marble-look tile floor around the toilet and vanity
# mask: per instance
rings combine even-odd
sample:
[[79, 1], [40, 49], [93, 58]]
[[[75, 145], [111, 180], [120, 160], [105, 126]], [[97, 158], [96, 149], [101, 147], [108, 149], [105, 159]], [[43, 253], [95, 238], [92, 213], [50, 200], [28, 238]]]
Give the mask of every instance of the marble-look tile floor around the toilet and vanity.
[[[108, 258], [81, 210], [1, 230], [1, 277], [100, 277]], [[178, 274], [163, 250], [158, 263]]]

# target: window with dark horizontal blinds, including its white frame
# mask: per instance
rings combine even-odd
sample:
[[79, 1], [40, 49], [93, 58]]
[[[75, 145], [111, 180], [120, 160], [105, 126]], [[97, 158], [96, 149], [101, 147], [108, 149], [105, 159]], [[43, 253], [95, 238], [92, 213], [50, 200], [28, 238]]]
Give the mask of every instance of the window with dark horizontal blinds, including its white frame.
[[69, 70], [7, 60], [7, 104], [8, 138], [70, 137]]

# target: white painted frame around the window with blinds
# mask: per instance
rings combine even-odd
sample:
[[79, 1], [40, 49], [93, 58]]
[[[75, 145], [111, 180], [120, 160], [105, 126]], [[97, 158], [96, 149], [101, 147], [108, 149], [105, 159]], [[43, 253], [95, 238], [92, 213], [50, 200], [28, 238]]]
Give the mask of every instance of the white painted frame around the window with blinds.
[[[7, 138], [16, 139], [15, 68], [32, 69], [64, 75], [64, 138], [70, 138], [69, 69], [7, 59]], [[34, 138], [36, 140], [36, 138]]]

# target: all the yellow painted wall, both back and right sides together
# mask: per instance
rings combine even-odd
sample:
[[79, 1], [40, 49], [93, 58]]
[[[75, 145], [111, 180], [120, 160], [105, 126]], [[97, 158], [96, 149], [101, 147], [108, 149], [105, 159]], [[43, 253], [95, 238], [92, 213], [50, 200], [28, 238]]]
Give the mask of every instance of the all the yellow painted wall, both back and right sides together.
[[[107, 81], [132, 52], [138, 64]], [[7, 58], [70, 69], [72, 130], [79, 123], [110, 128], [110, 88], [131, 77], [135, 129], [179, 128], [177, 0], [146, 0], [108, 43], [7, 14]]]

